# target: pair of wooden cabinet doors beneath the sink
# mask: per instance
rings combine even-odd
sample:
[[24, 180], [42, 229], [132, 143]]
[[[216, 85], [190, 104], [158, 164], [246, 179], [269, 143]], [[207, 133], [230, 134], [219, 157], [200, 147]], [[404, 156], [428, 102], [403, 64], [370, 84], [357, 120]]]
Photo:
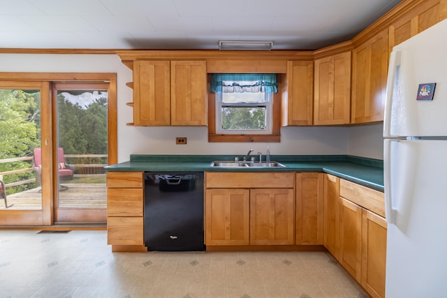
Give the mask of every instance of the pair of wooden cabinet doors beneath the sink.
[[205, 243], [293, 244], [294, 203], [293, 188], [207, 189]]

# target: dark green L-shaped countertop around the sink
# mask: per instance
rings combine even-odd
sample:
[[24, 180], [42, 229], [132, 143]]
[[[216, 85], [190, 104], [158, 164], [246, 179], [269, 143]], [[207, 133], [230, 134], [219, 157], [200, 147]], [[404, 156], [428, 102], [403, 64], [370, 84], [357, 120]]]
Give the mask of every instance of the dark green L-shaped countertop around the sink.
[[[383, 192], [383, 161], [346, 155], [271, 156], [287, 167], [212, 167], [212, 161], [235, 156], [131, 155], [130, 161], [109, 165], [105, 171], [147, 172], [325, 172]], [[242, 156], [239, 156], [242, 160]]]

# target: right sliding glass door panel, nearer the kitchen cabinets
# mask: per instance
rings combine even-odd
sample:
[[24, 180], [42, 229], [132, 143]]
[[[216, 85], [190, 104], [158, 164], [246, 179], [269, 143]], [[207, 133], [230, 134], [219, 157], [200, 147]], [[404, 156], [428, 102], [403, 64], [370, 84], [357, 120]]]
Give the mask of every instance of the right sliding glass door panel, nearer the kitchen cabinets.
[[108, 83], [53, 84], [54, 222], [105, 223]]

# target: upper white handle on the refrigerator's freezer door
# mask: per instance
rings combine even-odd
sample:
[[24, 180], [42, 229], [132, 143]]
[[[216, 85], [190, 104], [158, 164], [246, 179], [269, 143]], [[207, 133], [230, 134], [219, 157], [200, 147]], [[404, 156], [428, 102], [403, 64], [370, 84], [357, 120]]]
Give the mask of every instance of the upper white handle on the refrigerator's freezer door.
[[388, 78], [386, 81], [385, 114], [383, 115], [383, 137], [397, 137], [391, 135], [391, 108], [393, 107], [393, 94], [397, 83], [397, 68], [400, 66], [400, 52], [393, 51], [390, 55]]

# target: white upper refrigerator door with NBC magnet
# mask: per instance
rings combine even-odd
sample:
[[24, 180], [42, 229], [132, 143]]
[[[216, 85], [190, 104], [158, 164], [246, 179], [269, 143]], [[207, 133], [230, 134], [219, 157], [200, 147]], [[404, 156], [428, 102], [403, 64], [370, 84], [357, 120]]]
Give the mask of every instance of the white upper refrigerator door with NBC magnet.
[[[444, 20], [393, 48], [388, 69], [385, 137], [447, 136], [446, 32]], [[436, 83], [433, 100], [417, 100], [420, 94], [427, 94], [423, 86], [432, 83]]]

